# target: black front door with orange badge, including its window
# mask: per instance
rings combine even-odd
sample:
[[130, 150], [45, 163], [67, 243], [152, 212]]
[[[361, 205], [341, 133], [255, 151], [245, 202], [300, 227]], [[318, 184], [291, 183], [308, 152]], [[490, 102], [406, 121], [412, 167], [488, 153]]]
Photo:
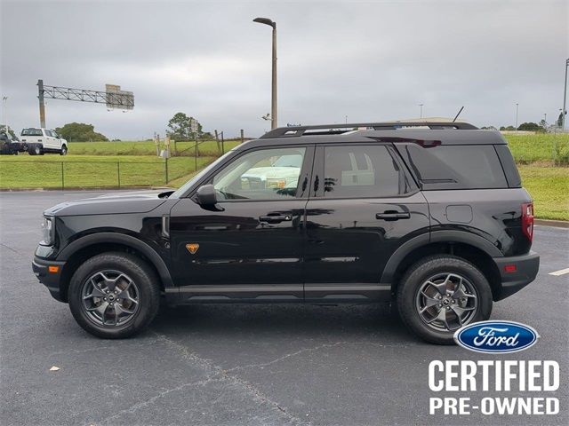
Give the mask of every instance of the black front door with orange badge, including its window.
[[301, 224], [313, 151], [246, 151], [205, 182], [215, 187], [215, 208], [190, 198], [172, 208], [172, 264], [183, 300], [302, 300]]

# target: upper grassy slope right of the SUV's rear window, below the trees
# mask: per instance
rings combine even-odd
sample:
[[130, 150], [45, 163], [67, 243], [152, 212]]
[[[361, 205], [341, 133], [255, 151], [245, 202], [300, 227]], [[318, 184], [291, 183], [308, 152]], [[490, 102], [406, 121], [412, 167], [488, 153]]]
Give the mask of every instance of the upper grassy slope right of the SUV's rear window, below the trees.
[[505, 135], [505, 138], [518, 164], [569, 164], [569, 133]]

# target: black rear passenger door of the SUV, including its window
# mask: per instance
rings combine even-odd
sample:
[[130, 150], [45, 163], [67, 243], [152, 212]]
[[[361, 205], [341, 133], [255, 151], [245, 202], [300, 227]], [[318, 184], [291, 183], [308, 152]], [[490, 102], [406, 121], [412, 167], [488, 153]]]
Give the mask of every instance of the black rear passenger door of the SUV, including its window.
[[305, 297], [378, 299], [389, 256], [429, 233], [429, 209], [389, 144], [318, 146], [307, 205]]

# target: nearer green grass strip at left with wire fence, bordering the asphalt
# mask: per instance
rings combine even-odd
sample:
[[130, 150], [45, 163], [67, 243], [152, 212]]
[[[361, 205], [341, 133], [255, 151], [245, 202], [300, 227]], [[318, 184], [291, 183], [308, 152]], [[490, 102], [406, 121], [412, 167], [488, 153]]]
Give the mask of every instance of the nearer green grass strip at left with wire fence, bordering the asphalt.
[[[197, 169], [215, 157], [197, 159]], [[181, 185], [195, 172], [194, 158], [168, 160], [168, 184], [164, 159], [150, 156], [111, 155], [5, 155], [0, 156], [0, 188], [89, 188], [103, 186]], [[120, 171], [120, 182], [119, 182]]]

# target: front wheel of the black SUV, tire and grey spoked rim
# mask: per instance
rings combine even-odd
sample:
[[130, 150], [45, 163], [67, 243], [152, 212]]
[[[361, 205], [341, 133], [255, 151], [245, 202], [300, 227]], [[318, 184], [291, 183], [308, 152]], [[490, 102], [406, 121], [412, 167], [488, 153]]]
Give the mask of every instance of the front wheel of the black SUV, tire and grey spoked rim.
[[84, 262], [73, 274], [69, 309], [79, 326], [92, 335], [130, 337], [156, 317], [160, 306], [157, 283], [156, 273], [139, 257], [103, 253]]

